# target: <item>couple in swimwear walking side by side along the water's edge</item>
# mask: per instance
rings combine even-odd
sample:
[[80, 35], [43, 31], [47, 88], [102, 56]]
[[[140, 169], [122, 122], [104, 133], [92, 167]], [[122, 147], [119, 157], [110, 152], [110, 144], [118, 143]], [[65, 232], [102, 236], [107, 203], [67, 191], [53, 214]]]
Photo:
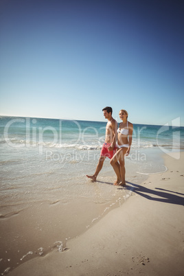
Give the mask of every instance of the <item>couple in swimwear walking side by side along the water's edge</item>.
[[[106, 157], [111, 159], [110, 163], [113, 166], [117, 180], [114, 185], [126, 185], [125, 182], [125, 167], [124, 157], [130, 153], [130, 147], [132, 144], [133, 124], [128, 122], [128, 113], [122, 109], [119, 111], [119, 118], [122, 122], [117, 129], [117, 122], [113, 119], [113, 109], [110, 106], [106, 106], [102, 109], [104, 117], [108, 119], [106, 124], [106, 136], [105, 142], [100, 152], [100, 159], [97, 163], [95, 174], [87, 177], [93, 181], [96, 181], [97, 175], [104, 164]], [[117, 142], [117, 143], [116, 143]]]

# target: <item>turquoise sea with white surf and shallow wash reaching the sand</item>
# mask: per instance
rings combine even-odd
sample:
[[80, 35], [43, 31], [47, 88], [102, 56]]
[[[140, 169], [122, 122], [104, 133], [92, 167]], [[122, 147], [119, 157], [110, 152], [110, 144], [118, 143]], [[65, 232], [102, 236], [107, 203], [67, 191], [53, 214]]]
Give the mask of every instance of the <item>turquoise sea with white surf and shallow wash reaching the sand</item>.
[[[128, 189], [113, 185], [115, 172], [108, 158], [97, 182], [92, 182], [86, 174], [95, 172], [105, 128], [106, 122], [0, 117], [1, 226], [4, 221], [13, 222], [15, 215], [21, 217], [21, 212], [26, 209], [31, 212], [35, 206], [60, 204], [65, 212], [60, 215], [56, 241], [53, 240], [52, 245], [45, 242], [49, 239], [43, 225], [45, 238], [42, 240], [39, 235], [43, 242], [39, 245], [41, 253], [48, 252], [58, 240], [60, 245], [64, 240], [80, 235], [108, 211], [122, 205], [132, 194], [133, 183], [146, 181], [149, 174], [165, 172], [163, 153], [176, 152], [175, 157], [179, 159], [180, 151], [184, 149], [184, 128], [179, 126], [179, 119], [173, 126], [134, 124], [133, 144], [126, 157]], [[79, 230], [74, 231], [75, 223], [80, 221], [78, 206], [81, 203], [85, 206], [85, 219], [80, 227], [76, 227]], [[71, 214], [73, 206], [76, 210]], [[11, 224], [11, 227], [16, 226]], [[1, 235], [1, 273], [29, 260], [38, 251], [37, 244], [29, 246], [27, 243], [25, 246], [25, 242], [21, 246], [18, 240], [12, 236], [11, 244], [7, 245], [6, 238]]]

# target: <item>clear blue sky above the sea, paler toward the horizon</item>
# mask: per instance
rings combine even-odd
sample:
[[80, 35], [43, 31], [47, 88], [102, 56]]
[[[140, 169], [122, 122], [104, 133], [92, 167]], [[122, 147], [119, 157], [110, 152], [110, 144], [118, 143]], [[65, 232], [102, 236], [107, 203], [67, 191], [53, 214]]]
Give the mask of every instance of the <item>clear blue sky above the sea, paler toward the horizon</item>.
[[183, 0], [0, 0], [0, 115], [184, 126]]

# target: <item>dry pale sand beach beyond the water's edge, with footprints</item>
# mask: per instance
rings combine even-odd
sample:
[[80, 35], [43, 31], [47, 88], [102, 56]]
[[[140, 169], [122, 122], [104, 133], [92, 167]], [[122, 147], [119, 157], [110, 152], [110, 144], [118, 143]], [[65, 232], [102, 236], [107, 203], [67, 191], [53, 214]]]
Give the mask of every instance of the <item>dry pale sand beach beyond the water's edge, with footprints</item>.
[[164, 160], [167, 172], [127, 183], [135, 190], [122, 206], [8, 275], [183, 275], [184, 152]]

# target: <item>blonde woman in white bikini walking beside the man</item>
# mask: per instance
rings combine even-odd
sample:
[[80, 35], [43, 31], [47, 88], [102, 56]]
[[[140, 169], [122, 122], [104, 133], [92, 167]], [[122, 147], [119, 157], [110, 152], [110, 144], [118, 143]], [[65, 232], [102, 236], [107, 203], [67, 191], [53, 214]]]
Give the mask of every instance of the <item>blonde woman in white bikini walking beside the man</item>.
[[124, 109], [119, 111], [119, 118], [122, 119], [122, 123], [119, 124], [117, 130], [117, 152], [111, 159], [111, 165], [117, 175], [117, 181], [115, 181], [114, 185], [126, 185], [124, 156], [128, 156], [130, 153], [133, 139], [133, 124], [128, 122], [128, 112]]

